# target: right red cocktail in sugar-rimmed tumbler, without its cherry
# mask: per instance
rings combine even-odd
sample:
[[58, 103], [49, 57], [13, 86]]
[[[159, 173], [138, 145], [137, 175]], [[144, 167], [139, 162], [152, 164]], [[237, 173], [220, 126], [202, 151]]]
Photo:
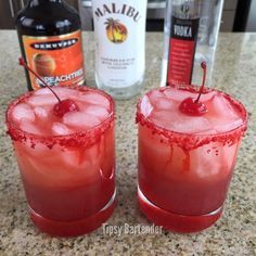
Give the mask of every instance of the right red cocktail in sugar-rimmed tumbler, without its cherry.
[[244, 106], [213, 89], [201, 95], [206, 113], [182, 113], [181, 102], [197, 94], [191, 86], [156, 89], [137, 111], [140, 207], [177, 232], [203, 230], [220, 217], [247, 126]]

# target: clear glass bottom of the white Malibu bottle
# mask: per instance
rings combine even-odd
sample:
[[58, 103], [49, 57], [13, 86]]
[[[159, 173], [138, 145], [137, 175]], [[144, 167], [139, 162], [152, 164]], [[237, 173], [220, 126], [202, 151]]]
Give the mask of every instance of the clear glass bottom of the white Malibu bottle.
[[106, 93], [112, 95], [115, 100], [128, 100], [137, 94], [140, 93], [143, 87], [143, 77], [141, 80], [137, 81], [136, 84], [129, 86], [129, 87], [123, 87], [123, 88], [115, 88], [115, 87], [108, 87], [106, 85], [103, 85], [100, 81], [100, 78], [95, 74], [95, 81], [99, 89], [104, 90]]

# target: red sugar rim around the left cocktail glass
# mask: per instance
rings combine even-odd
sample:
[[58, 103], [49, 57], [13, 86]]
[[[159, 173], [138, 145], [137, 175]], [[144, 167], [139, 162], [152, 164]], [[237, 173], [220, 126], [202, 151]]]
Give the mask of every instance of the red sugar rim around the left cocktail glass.
[[105, 120], [103, 120], [101, 124], [90, 129], [87, 129], [85, 131], [74, 132], [72, 135], [66, 135], [66, 136], [40, 136], [40, 135], [23, 131], [15, 125], [15, 123], [12, 120], [10, 115], [14, 106], [25, 101], [25, 99], [33, 95], [35, 92], [35, 91], [29, 91], [20, 95], [17, 99], [13, 100], [9, 104], [8, 110], [5, 112], [5, 124], [8, 127], [8, 133], [11, 136], [13, 141], [20, 141], [20, 142], [29, 141], [33, 148], [35, 148], [37, 143], [43, 143], [49, 149], [51, 149], [55, 144], [59, 144], [62, 146], [72, 146], [72, 148], [73, 146], [86, 148], [95, 143], [95, 141], [100, 139], [101, 135], [112, 126], [112, 123], [115, 118], [114, 100], [112, 99], [112, 97], [102, 90], [93, 89], [89, 87], [78, 87], [78, 86], [64, 86], [64, 87], [68, 89], [82, 91], [82, 92], [87, 92], [87, 91], [97, 92], [97, 93], [100, 93], [101, 95], [104, 95], [111, 104], [110, 116]]

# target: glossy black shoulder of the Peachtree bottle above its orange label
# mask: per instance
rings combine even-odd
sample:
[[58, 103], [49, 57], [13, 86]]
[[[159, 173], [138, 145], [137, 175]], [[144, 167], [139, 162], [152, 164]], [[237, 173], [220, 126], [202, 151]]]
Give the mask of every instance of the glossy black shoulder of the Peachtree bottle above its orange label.
[[15, 25], [18, 34], [28, 36], [57, 36], [80, 29], [78, 13], [69, 7], [25, 8]]

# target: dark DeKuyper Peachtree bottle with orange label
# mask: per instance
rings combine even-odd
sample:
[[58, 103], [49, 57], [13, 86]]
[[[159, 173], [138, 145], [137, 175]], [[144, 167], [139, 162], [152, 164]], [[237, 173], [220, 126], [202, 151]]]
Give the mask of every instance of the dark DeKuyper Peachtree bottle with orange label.
[[[81, 24], [63, 0], [29, 0], [16, 17], [22, 55], [50, 86], [82, 85]], [[43, 85], [26, 72], [29, 90]]]

